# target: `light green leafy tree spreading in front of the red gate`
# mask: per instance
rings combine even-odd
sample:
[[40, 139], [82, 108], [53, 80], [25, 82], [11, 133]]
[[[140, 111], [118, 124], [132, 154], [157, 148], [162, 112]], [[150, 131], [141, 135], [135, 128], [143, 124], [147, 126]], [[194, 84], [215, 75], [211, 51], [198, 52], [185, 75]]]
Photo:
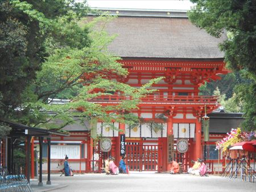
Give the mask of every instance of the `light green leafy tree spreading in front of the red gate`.
[[[152, 93], [151, 85], [158, 82], [161, 78], [151, 80], [148, 84], [137, 89], [127, 84], [117, 82], [116, 79], [127, 75], [127, 70], [117, 62], [119, 57], [112, 56], [108, 52], [108, 45], [114, 36], [109, 36], [104, 31], [105, 22], [114, 19], [112, 16], [100, 16], [91, 22], [86, 22], [88, 26], [91, 43], [90, 47], [82, 49], [62, 48], [56, 51], [55, 55], [44, 62], [42, 70], [38, 73], [36, 81], [36, 100], [40, 107], [56, 112], [55, 118], [63, 121], [57, 125], [51, 123], [52, 128], [63, 127], [67, 123], [72, 123], [73, 116], [80, 116], [81, 119], [104, 120], [104, 122], [133, 122], [126, 112], [137, 108], [140, 98], [147, 93]], [[56, 82], [58, 84], [56, 85]], [[71, 91], [67, 90], [73, 90]], [[100, 90], [100, 93], [94, 90]], [[121, 100], [118, 105], [105, 106], [94, 104], [88, 100], [95, 97], [111, 96], [118, 94]], [[61, 98], [65, 95], [72, 102], [65, 106], [49, 106], [43, 103], [48, 98]], [[131, 99], [126, 99], [131, 98]], [[43, 101], [43, 103], [42, 103]], [[31, 105], [30, 105], [31, 106]], [[79, 111], [69, 111], [69, 108], [79, 108]], [[38, 116], [38, 112], [33, 110], [31, 114]], [[33, 117], [35, 119], [35, 117]], [[49, 127], [48, 120], [40, 121], [40, 126]], [[111, 127], [111, 126], [110, 126]]]

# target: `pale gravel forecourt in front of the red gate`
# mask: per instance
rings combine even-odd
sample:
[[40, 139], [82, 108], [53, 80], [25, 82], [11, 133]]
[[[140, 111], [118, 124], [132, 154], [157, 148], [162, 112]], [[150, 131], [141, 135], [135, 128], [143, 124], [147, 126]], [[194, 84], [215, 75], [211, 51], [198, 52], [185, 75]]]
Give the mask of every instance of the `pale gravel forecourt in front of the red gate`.
[[255, 192], [256, 182], [242, 181], [219, 176], [200, 177], [190, 174], [131, 172], [130, 174], [106, 175], [104, 173], [76, 174], [73, 177], [51, 175], [52, 185], [43, 186], [32, 180], [33, 191], [208, 191], [208, 192]]

